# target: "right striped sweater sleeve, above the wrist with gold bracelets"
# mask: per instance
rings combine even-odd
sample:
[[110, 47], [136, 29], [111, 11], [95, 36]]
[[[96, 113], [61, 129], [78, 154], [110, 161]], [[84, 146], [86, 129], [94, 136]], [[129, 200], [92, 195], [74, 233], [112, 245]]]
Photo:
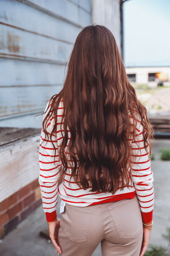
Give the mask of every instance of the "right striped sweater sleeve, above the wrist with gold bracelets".
[[[141, 126], [142, 125], [139, 127], [141, 128]], [[137, 130], [138, 133], [135, 135], [137, 144], [134, 140], [131, 141], [132, 156], [135, 157], [134, 162], [132, 162], [131, 177], [140, 204], [142, 220], [144, 223], [149, 223], [152, 220], [154, 209], [154, 186], [152, 183], [154, 178], [151, 171], [149, 146], [147, 147], [148, 150], [146, 150], [144, 147], [142, 129]]]

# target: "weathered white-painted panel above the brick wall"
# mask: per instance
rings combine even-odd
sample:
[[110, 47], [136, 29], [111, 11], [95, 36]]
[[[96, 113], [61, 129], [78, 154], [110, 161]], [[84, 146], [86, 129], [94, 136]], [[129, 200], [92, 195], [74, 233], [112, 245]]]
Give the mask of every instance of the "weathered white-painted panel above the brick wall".
[[38, 178], [38, 146], [39, 132], [0, 148], [0, 202]]

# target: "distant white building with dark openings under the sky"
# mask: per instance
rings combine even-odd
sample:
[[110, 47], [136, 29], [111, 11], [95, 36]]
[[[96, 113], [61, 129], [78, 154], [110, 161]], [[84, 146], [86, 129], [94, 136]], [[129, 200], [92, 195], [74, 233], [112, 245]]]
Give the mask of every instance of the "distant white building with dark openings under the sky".
[[149, 86], [170, 86], [169, 67], [126, 67], [126, 74], [133, 84], [148, 84]]

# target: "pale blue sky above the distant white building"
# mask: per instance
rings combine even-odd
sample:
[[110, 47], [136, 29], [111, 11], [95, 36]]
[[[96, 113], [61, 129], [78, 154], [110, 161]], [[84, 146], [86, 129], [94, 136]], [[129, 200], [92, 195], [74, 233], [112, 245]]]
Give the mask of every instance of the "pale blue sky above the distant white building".
[[170, 66], [170, 0], [123, 4], [124, 65]]

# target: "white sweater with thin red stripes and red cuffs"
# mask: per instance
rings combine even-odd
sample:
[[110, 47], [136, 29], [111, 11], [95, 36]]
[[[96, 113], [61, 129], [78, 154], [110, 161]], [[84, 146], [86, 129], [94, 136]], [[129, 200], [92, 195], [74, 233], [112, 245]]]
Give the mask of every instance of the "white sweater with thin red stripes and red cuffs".
[[[46, 109], [48, 109], [49, 103], [47, 103]], [[46, 110], [45, 109], [45, 110]], [[41, 190], [41, 198], [43, 201], [43, 209], [46, 214], [47, 221], [54, 221], [57, 218], [56, 205], [58, 194], [67, 204], [74, 206], [88, 206], [98, 203], [106, 203], [118, 201], [125, 198], [133, 198], [137, 195], [139, 205], [142, 213], [143, 222], [148, 223], [152, 220], [152, 212], [154, 208], [154, 187], [153, 187], [153, 173], [151, 171], [149, 153], [146, 152], [143, 145], [142, 125], [138, 120], [137, 134], [135, 135], [138, 141], [140, 151], [133, 139], [130, 139], [132, 152], [135, 155], [135, 161], [132, 163], [130, 175], [132, 177], [131, 187], [124, 187], [123, 190], [119, 188], [114, 195], [111, 193], [103, 192], [91, 192], [90, 189], [84, 190], [80, 188], [73, 179], [70, 180], [71, 165], [68, 163], [65, 178], [58, 186], [58, 178], [60, 177], [60, 167], [62, 166], [61, 159], [58, 154], [58, 150], [62, 143], [62, 133], [60, 130], [61, 118], [63, 111], [63, 102], [60, 101], [60, 105], [57, 109], [57, 133], [53, 135], [52, 140], [56, 148], [56, 157], [54, 161], [54, 148], [50, 140], [45, 140], [45, 132], [41, 129], [40, 145], [39, 145], [39, 185]], [[47, 115], [44, 114], [44, 117]], [[130, 116], [130, 118], [132, 118]], [[51, 118], [47, 124], [47, 132], [50, 133], [53, 128], [54, 118]], [[64, 129], [62, 127], [64, 134]], [[70, 139], [70, 131], [68, 130], [68, 136]], [[67, 141], [67, 147], [69, 143]], [[69, 159], [69, 153], [67, 153], [67, 147], [65, 154]]]

